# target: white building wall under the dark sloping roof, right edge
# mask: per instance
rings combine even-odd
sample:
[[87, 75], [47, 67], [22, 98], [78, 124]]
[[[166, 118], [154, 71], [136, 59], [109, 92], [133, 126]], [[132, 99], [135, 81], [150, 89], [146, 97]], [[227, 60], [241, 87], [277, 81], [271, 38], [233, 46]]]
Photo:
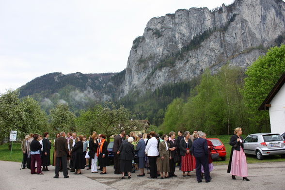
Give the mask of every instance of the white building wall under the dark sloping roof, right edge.
[[285, 84], [270, 102], [270, 126], [272, 133], [285, 132]]

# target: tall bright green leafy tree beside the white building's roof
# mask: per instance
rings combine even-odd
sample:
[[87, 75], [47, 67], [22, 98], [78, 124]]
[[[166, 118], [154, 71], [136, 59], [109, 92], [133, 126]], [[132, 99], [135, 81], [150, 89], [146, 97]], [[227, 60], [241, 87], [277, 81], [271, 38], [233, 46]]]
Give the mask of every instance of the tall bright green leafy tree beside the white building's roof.
[[284, 72], [285, 45], [270, 48], [248, 67], [242, 95], [253, 124], [252, 132], [270, 131], [269, 112], [258, 111], [258, 108]]

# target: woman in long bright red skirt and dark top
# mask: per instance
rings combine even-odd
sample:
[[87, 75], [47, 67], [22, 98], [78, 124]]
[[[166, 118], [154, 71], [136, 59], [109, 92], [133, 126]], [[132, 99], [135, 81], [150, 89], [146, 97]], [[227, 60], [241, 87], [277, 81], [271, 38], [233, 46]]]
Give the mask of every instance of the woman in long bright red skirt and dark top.
[[184, 138], [179, 142], [180, 155], [181, 155], [181, 171], [183, 172], [183, 177], [186, 176], [185, 172], [187, 172], [188, 176], [190, 172], [193, 171], [193, 163], [192, 163], [192, 153], [190, 152], [190, 148], [192, 146], [192, 141], [190, 140], [190, 132], [184, 132]]

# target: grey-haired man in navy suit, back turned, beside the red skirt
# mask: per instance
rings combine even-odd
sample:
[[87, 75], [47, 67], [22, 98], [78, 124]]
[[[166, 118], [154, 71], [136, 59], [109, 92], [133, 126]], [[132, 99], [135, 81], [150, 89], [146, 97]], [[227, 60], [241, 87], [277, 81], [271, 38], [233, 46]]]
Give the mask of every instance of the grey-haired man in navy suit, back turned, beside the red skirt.
[[190, 148], [194, 157], [196, 158], [196, 177], [198, 183], [202, 182], [201, 166], [203, 165], [205, 172], [206, 183], [210, 182], [210, 172], [208, 163], [208, 144], [206, 140], [206, 134], [204, 132], [199, 133], [199, 138], [193, 142]]

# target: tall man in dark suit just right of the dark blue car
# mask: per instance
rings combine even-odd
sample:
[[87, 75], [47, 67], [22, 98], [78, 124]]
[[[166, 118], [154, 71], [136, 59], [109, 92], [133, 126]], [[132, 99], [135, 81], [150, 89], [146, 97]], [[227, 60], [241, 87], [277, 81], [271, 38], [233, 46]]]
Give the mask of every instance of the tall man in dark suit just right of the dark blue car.
[[113, 154], [114, 154], [114, 174], [121, 174], [120, 172], [120, 155], [117, 154], [121, 144], [124, 141], [124, 137], [126, 135], [125, 130], [122, 130], [119, 135], [114, 137], [114, 144], [113, 144]]

